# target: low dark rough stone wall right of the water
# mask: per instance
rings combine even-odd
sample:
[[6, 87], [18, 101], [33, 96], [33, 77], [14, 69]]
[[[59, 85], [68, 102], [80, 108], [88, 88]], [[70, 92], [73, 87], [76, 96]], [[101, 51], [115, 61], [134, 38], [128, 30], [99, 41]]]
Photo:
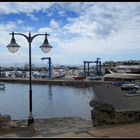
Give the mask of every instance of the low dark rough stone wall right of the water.
[[101, 101], [92, 100], [90, 106], [93, 126], [105, 124], [122, 124], [140, 121], [140, 110], [118, 111], [115, 108]]

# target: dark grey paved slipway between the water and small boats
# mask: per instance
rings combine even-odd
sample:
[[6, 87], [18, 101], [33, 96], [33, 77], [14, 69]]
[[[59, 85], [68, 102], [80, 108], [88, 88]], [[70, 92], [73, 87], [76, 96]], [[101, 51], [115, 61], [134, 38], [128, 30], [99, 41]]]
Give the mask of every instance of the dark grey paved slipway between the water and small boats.
[[97, 99], [113, 105], [116, 110], [140, 110], [140, 95], [125, 96], [131, 91], [121, 90], [119, 86], [106, 83], [94, 84], [93, 91]]

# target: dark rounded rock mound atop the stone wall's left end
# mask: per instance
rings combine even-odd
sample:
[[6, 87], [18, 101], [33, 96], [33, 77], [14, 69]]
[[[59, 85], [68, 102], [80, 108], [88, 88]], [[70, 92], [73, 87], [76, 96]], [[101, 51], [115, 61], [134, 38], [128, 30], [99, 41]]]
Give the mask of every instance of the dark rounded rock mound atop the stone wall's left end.
[[97, 100], [90, 101], [90, 106], [93, 107], [94, 109], [108, 113], [115, 112], [115, 108], [112, 105]]

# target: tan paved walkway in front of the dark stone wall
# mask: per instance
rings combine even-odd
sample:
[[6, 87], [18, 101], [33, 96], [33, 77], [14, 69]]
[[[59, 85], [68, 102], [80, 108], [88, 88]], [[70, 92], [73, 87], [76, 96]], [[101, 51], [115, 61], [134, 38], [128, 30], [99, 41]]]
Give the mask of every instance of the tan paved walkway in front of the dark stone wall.
[[68, 132], [54, 137], [140, 137], [140, 123], [96, 128], [84, 133]]

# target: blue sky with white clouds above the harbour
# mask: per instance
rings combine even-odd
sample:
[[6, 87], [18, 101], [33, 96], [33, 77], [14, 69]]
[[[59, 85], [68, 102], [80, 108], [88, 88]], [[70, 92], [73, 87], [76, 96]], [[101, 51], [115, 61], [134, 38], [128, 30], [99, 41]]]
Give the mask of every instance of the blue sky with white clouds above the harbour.
[[83, 61], [140, 60], [140, 2], [0, 2], [0, 65], [29, 63], [29, 44], [15, 35], [21, 47], [7, 49], [11, 35], [48, 33], [53, 48], [39, 48], [44, 36], [32, 42], [32, 64], [83, 65]]

